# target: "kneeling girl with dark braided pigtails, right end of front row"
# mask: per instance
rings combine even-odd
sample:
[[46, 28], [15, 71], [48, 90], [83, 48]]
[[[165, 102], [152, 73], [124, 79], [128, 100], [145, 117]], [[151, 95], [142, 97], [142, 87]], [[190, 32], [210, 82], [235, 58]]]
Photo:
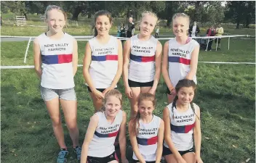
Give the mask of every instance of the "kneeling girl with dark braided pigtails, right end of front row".
[[163, 112], [163, 156], [167, 163], [202, 163], [200, 109], [192, 102], [196, 84], [193, 80], [183, 79], [175, 89], [174, 101]]

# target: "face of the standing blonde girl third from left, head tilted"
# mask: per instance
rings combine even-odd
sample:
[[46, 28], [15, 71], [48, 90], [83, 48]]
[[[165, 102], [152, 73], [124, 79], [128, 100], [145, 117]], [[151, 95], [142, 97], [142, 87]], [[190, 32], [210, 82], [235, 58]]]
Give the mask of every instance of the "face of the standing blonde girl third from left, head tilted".
[[146, 14], [140, 22], [140, 33], [144, 36], [151, 35], [156, 26], [156, 17]]

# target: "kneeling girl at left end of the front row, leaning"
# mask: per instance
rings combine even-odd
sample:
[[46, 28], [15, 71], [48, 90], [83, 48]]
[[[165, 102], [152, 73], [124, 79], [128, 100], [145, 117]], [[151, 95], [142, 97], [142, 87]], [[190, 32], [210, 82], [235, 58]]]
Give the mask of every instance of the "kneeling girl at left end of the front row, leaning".
[[126, 159], [127, 114], [121, 110], [121, 93], [116, 89], [105, 94], [104, 106], [89, 122], [81, 151], [81, 163], [117, 163], [114, 142], [119, 133], [121, 162]]

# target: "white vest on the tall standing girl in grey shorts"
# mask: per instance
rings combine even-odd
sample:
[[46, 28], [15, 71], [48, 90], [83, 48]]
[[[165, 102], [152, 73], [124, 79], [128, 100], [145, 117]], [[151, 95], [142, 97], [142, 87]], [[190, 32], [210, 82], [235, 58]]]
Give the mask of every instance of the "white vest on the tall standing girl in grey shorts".
[[41, 86], [52, 89], [73, 88], [73, 37], [65, 33], [63, 38], [55, 41], [42, 33], [38, 40], [43, 68]]

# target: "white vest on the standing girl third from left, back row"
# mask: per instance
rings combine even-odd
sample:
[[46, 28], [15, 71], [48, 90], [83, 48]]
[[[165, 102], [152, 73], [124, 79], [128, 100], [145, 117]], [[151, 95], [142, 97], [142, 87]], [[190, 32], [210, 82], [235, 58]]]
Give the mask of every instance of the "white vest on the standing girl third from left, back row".
[[140, 41], [137, 35], [131, 38], [131, 54], [128, 70], [129, 80], [146, 83], [155, 76], [155, 55], [157, 39], [151, 36], [148, 41]]

